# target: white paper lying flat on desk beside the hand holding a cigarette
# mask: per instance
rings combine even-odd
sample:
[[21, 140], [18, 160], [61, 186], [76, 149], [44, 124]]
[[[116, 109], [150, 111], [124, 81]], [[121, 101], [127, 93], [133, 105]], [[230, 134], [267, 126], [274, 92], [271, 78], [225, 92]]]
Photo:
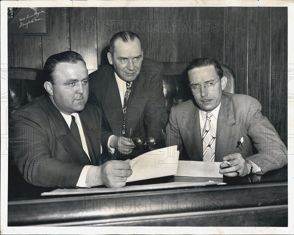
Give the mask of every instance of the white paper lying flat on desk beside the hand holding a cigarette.
[[219, 173], [221, 162], [179, 161], [175, 176], [223, 178]]

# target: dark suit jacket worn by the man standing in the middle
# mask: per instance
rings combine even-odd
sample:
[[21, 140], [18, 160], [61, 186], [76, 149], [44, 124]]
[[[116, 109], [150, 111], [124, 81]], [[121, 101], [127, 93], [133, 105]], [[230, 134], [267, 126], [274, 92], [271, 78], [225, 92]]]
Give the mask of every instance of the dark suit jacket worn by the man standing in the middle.
[[[125, 129], [127, 138], [141, 137], [145, 141], [146, 138], [153, 137], [157, 148], [165, 147], [163, 132], [167, 123], [160, 65], [153, 59], [143, 59], [141, 72], [131, 86]], [[111, 135], [123, 136], [123, 107], [112, 65], [103, 66], [89, 77], [88, 102], [101, 109], [102, 125], [108, 131], [101, 141], [106, 152]]]

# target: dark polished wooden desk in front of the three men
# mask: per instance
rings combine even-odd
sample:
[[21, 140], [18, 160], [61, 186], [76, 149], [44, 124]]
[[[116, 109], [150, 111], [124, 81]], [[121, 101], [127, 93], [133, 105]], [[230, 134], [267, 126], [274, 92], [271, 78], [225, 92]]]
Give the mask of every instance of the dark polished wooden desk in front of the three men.
[[8, 226], [288, 226], [287, 166], [223, 181], [227, 185], [11, 198]]

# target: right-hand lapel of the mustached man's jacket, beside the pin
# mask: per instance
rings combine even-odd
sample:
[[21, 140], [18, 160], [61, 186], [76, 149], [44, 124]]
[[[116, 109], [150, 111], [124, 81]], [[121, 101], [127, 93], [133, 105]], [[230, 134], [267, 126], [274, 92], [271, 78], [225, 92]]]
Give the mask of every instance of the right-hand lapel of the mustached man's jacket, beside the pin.
[[235, 151], [234, 148], [237, 143], [233, 143], [233, 141], [238, 139], [240, 130], [240, 124], [233, 125], [235, 123], [235, 118], [230, 99], [222, 95], [220, 102], [216, 129], [216, 162], [221, 162], [224, 156], [232, 153], [232, 150]]

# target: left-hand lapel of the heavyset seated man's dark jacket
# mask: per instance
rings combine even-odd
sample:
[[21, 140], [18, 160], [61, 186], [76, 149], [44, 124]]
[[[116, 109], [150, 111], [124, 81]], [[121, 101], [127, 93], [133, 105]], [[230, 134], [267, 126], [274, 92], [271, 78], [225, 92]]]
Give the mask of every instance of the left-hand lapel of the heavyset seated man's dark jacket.
[[56, 125], [56, 130], [58, 131], [58, 136], [56, 138], [59, 140], [59, 142], [78, 163], [91, 165], [87, 154], [85, 153], [81, 145], [79, 145], [79, 143], [76, 141], [76, 138], [74, 138], [74, 135], [71, 133], [71, 130], [66, 124], [66, 121], [62, 117], [59, 110], [51, 102], [48, 95], [44, 97], [44, 104], [49, 116]]

